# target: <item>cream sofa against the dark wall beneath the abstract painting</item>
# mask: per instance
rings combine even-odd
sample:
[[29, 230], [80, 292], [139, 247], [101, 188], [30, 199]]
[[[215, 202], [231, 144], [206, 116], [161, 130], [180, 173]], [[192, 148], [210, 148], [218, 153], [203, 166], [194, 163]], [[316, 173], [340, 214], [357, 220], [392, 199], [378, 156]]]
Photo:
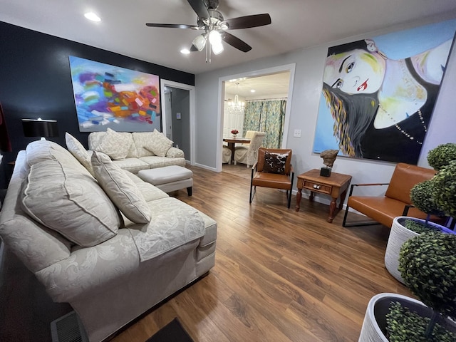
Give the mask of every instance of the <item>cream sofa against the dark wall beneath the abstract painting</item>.
[[108, 128], [90, 133], [88, 148], [109, 155], [115, 165], [135, 174], [155, 167], [185, 166], [184, 152], [172, 147], [172, 141], [157, 130], [124, 133]]

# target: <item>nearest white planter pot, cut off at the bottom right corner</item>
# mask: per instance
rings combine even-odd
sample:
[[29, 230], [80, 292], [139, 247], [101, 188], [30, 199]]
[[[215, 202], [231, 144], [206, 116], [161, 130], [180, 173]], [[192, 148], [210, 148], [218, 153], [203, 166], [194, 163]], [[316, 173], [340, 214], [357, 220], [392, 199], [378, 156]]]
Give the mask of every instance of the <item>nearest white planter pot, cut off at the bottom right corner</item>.
[[[358, 342], [388, 342], [388, 338], [385, 336], [386, 314], [388, 314], [392, 301], [398, 301], [402, 306], [407, 307], [410, 311], [415, 311], [420, 316], [430, 317], [432, 315], [432, 309], [416, 299], [401, 294], [377, 294], [368, 303]], [[456, 331], [456, 323], [450, 319], [440, 318], [437, 319], [437, 323], [443, 323], [450, 331]]]

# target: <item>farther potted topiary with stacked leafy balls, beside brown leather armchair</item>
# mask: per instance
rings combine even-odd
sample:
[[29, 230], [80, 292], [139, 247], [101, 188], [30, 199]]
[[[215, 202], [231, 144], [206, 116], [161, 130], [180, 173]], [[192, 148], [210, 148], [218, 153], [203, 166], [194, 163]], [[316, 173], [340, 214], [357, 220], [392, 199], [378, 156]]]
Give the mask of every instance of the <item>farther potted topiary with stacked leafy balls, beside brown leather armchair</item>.
[[[453, 202], [448, 202], [447, 199], [454, 198], [456, 194], [456, 187], [448, 188], [445, 185], [448, 182], [455, 182], [456, 178], [456, 167], [455, 170], [445, 171], [445, 181], [442, 180], [438, 183], [437, 180], [440, 180], [439, 174], [441, 170], [445, 169], [445, 165], [449, 165], [452, 160], [456, 160], [456, 144], [447, 143], [435, 147], [433, 150], [427, 154], [427, 161], [431, 167], [436, 170], [437, 175], [432, 177], [431, 180], [426, 180], [425, 182], [420, 182], [415, 185], [410, 191], [410, 199], [415, 207], [420, 209], [422, 212], [427, 214], [426, 219], [418, 219], [415, 217], [395, 217], [393, 220], [393, 225], [391, 226], [390, 236], [388, 237], [388, 244], [385, 250], [385, 267], [388, 269], [391, 275], [398, 279], [401, 283], [404, 283], [400, 271], [398, 270], [399, 264], [399, 251], [403, 243], [412, 237], [416, 237], [423, 232], [434, 232], [440, 231], [447, 234], [455, 234], [451, 229], [442, 226], [440, 224], [435, 224], [430, 222], [431, 215], [443, 217], [454, 217], [456, 211], [456, 204]], [[451, 178], [450, 175], [453, 175]], [[450, 179], [448, 179], [450, 177]], [[447, 187], [447, 190], [443, 190], [443, 187]], [[442, 191], [446, 191], [447, 199], [441, 199]], [[453, 195], [451, 195], [453, 194]], [[442, 207], [442, 203], [444, 203]]]

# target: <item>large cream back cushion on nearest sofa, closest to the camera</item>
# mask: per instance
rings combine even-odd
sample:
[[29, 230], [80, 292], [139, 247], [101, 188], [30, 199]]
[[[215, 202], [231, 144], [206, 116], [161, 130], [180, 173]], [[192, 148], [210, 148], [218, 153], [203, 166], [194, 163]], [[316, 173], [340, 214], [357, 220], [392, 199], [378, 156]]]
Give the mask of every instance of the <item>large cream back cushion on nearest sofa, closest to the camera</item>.
[[120, 227], [118, 210], [96, 180], [60, 160], [31, 166], [21, 206], [36, 221], [83, 247], [110, 239]]

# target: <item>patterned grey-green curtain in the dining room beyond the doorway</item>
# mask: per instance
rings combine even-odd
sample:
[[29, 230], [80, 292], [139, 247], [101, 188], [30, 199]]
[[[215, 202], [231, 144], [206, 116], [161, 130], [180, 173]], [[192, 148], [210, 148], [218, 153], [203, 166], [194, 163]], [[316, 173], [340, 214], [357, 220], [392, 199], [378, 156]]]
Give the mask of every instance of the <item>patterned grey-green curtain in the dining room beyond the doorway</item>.
[[244, 110], [244, 132], [265, 132], [261, 146], [281, 148], [284, 135], [286, 98], [280, 100], [247, 100]]

